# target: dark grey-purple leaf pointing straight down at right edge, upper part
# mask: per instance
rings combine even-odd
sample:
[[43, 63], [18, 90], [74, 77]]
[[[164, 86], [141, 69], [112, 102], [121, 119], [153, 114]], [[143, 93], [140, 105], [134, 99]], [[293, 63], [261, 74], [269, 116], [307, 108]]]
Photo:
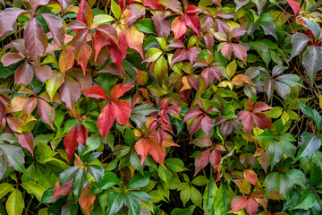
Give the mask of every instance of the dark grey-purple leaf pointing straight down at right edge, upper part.
[[322, 68], [322, 62], [320, 61], [321, 57], [322, 47], [309, 46], [304, 51], [302, 64], [308, 74], [311, 86], [313, 86], [316, 74]]

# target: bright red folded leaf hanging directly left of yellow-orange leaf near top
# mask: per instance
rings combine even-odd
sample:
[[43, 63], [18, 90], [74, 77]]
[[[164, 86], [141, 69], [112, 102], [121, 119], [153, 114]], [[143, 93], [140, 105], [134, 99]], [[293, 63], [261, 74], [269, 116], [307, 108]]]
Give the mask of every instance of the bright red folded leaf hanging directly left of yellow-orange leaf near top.
[[108, 51], [111, 55], [113, 62], [117, 64], [117, 67], [119, 68], [119, 71], [122, 74], [122, 62], [126, 56], [127, 50], [126, 37], [123, 32], [118, 33], [118, 39], [118, 46], [117, 44], [112, 42], [111, 45], [108, 46]]

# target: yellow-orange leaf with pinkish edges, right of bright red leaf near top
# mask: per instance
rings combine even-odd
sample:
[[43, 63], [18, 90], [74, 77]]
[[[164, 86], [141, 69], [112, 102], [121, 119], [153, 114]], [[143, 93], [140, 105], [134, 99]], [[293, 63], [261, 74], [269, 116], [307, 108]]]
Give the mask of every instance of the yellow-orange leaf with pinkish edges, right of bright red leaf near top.
[[129, 47], [137, 50], [143, 59], [144, 56], [142, 44], [144, 39], [144, 33], [138, 30], [138, 28], [135, 25], [132, 25], [130, 30], [128, 30], [127, 28], [123, 28], [123, 32], [125, 34]]

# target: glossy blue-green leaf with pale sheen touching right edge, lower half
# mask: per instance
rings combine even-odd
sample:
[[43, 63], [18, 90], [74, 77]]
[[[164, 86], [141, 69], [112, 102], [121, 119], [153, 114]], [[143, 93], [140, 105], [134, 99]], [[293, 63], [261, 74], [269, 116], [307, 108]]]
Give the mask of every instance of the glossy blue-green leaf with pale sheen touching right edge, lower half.
[[313, 133], [302, 133], [301, 139], [302, 142], [299, 142], [301, 148], [298, 152], [297, 159], [312, 156], [321, 146], [321, 140]]

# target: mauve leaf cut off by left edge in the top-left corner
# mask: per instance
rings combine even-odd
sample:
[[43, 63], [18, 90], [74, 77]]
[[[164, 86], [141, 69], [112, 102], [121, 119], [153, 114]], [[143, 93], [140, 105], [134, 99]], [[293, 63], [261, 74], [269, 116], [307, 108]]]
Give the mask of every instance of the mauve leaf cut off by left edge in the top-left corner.
[[16, 7], [5, 8], [0, 13], [0, 38], [4, 37], [5, 33], [9, 30], [14, 30], [15, 22], [21, 13], [27, 13], [27, 11]]

